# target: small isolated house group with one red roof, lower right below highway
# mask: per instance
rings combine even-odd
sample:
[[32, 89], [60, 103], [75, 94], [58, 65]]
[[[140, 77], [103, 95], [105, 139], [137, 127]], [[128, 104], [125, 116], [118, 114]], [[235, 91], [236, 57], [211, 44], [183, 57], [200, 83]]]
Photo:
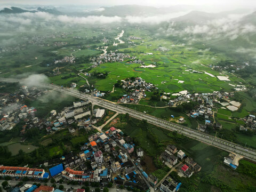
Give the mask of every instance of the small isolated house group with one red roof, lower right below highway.
[[[178, 163], [178, 159], [183, 161], [182, 159], [186, 157], [186, 154], [182, 150], [179, 150], [178, 153], [176, 153], [177, 147], [174, 145], [168, 145], [166, 147], [166, 150], [161, 154], [161, 158], [164, 161], [168, 162], [169, 165], [174, 166]], [[186, 157], [185, 164], [180, 164], [177, 167], [177, 170], [182, 176], [185, 175], [186, 177], [191, 177], [194, 172], [198, 172], [201, 170], [201, 166], [193, 161], [191, 157]]]

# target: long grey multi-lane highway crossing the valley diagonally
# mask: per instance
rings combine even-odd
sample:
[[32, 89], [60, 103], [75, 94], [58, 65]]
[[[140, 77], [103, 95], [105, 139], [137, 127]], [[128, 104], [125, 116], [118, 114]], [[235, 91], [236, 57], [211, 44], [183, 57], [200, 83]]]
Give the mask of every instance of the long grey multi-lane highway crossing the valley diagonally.
[[[21, 84], [26, 83], [22, 79], [14, 79], [14, 78], [0, 78], [0, 82], [6, 82], [6, 83], [20, 82]], [[93, 105], [105, 107], [107, 109], [116, 111], [117, 113], [124, 113], [124, 114], [128, 113], [131, 117], [141, 119], [141, 120], [145, 119], [150, 124], [154, 124], [156, 126], [162, 127], [170, 131], [177, 131], [178, 133], [186, 135], [189, 138], [196, 139], [198, 141], [204, 142], [208, 145], [212, 145], [214, 147], [220, 148], [225, 151], [237, 153], [247, 159], [250, 159], [253, 162], [256, 162], [256, 150], [243, 147], [241, 145], [238, 145], [237, 143], [233, 143], [220, 138], [215, 138], [212, 135], [208, 135], [196, 130], [189, 129], [186, 126], [170, 123], [163, 119], [160, 119], [148, 114], [140, 113], [139, 111], [123, 107], [111, 101], [93, 97], [92, 95], [85, 94], [74, 89], [67, 89], [65, 87], [61, 87], [58, 85], [44, 84], [44, 83], [39, 84], [37, 86], [43, 87], [45, 89], [51, 89], [61, 93], [65, 93], [79, 99], [89, 100], [90, 102], [93, 103]]]

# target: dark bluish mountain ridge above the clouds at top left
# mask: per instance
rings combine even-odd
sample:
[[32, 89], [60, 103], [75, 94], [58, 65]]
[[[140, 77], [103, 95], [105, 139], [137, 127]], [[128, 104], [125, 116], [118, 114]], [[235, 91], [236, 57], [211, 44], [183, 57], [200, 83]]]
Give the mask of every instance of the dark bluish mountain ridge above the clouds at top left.
[[46, 12], [46, 13], [51, 13], [51, 14], [55, 14], [55, 15], [59, 15], [62, 14], [60, 11], [58, 11], [57, 9], [43, 9], [41, 7], [38, 7], [37, 10], [26, 10], [26, 9], [21, 9], [20, 7], [11, 7], [11, 9], [9, 8], [4, 8], [3, 10], [0, 11], [0, 13], [2, 14], [11, 14], [11, 13], [26, 13], [26, 12], [30, 12], [30, 13], [35, 13], [35, 12]]

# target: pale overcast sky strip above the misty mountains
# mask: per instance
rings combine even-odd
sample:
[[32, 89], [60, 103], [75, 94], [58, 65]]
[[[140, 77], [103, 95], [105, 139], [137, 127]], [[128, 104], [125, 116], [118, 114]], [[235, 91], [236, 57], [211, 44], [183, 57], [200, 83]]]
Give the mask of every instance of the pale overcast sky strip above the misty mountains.
[[256, 0], [1, 0], [0, 4], [12, 5], [89, 5], [89, 6], [113, 6], [113, 5], [149, 5], [149, 6], [171, 6], [171, 5], [206, 5], [214, 9], [231, 10], [237, 8], [255, 8]]

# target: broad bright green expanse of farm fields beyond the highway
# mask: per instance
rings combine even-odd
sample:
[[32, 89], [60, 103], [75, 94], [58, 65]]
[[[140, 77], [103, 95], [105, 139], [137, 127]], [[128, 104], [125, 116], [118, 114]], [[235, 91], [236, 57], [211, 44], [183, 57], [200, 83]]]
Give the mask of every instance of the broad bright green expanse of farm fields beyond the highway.
[[[167, 47], [169, 51], [157, 51], [159, 44]], [[209, 65], [221, 60], [222, 55], [216, 56], [211, 52], [198, 55], [199, 50], [196, 48], [187, 50], [185, 45], [175, 45], [161, 40], [141, 43], [138, 46], [119, 51], [129, 52], [129, 55], [136, 56], [145, 62], [146, 66], [154, 65], [155, 67], [141, 68], [139, 64], [125, 62], [103, 63], [90, 70], [90, 73], [94, 71], [108, 73], [106, 79], [101, 79], [95, 84], [97, 89], [110, 91], [117, 80], [127, 77], [141, 77], [166, 93], [176, 93], [183, 90], [201, 93], [220, 90], [231, 91], [233, 86], [229, 84], [237, 84], [235, 78], [230, 78], [229, 84], [220, 81], [217, 78], [220, 75], [219, 72], [209, 67]], [[211, 60], [209, 57], [215, 57], [215, 59]]]

